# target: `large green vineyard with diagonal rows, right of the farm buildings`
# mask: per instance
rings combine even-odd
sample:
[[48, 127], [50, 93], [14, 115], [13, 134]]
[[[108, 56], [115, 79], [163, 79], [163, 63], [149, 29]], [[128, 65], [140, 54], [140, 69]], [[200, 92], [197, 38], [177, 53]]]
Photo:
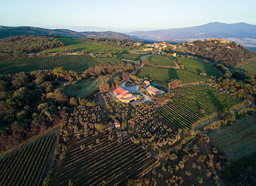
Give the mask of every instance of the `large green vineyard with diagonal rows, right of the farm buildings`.
[[225, 108], [235, 108], [241, 101], [207, 85], [189, 86], [174, 90], [172, 103], [158, 113], [171, 125], [187, 131], [216, 116]]

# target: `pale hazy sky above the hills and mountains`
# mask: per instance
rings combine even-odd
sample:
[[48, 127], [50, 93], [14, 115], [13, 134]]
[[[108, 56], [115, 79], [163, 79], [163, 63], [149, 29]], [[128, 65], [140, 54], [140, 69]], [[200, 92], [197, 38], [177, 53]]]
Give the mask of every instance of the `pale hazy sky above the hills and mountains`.
[[148, 31], [208, 22], [256, 24], [255, 7], [256, 0], [1, 0], [0, 25]]

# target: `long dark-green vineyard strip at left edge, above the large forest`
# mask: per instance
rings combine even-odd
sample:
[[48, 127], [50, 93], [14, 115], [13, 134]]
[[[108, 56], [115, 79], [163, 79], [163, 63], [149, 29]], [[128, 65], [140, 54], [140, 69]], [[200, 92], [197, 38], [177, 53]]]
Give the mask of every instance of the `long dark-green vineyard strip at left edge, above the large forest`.
[[89, 55], [63, 55], [50, 57], [29, 57], [0, 62], [0, 74], [14, 74], [43, 69], [54, 69], [60, 66], [77, 72], [85, 71], [98, 64]]

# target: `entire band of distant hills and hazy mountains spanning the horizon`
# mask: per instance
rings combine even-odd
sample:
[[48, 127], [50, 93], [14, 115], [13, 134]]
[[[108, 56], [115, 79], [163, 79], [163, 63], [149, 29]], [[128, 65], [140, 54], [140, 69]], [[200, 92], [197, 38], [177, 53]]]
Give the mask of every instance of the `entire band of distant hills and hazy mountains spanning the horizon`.
[[177, 43], [194, 41], [196, 39], [223, 38], [236, 41], [244, 47], [256, 48], [256, 25], [246, 24], [244, 22], [237, 24], [211, 22], [195, 27], [161, 29], [156, 31], [135, 31], [127, 34], [112, 31], [76, 32], [68, 29], [44, 29], [40, 27], [0, 27], [0, 38], [23, 34], [70, 36], [72, 38], [143, 39], [150, 41], [172, 41]]

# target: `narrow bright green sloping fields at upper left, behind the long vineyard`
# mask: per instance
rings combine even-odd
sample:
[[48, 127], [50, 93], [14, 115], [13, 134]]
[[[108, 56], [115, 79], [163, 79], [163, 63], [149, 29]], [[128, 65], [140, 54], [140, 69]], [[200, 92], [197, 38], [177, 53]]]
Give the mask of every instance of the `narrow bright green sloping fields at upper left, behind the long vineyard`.
[[69, 47], [60, 47], [60, 48], [54, 48], [51, 50], [45, 50], [48, 53], [55, 53], [55, 52], [62, 52], [63, 50], [72, 50], [72, 52], [77, 51], [83, 51], [86, 50], [86, 52], [93, 52], [93, 51], [112, 51], [112, 50], [126, 50], [126, 48], [120, 48], [120, 47], [111, 47], [107, 45], [101, 45], [98, 43], [92, 43], [90, 41], [79, 41], [77, 39], [71, 39], [71, 38], [57, 38], [58, 40], [63, 41], [66, 45]]

